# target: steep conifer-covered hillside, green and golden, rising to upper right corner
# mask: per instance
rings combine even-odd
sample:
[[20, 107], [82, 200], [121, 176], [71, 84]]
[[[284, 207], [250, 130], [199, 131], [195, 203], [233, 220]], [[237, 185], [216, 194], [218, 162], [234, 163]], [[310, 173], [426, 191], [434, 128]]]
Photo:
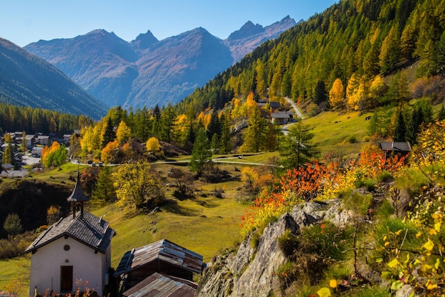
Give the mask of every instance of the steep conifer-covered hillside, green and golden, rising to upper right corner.
[[[223, 108], [253, 91], [256, 98], [289, 96], [311, 103], [308, 111], [330, 108], [364, 110], [391, 103], [400, 84], [388, 75], [411, 67], [417, 78], [445, 74], [445, 1], [343, 0], [274, 41], [262, 44], [240, 63], [195, 90], [179, 110]], [[341, 100], [330, 102], [334, 81]], [[417, 85], [423, 95], [424, 85]], [[388, 92], [387, 88], [390, 88]], [[420, 86], [422, 85], [422, 86]], [[329, 105], [329, 104], [328, 104]], [[329, 108], [329, 106], [327, 106]]]

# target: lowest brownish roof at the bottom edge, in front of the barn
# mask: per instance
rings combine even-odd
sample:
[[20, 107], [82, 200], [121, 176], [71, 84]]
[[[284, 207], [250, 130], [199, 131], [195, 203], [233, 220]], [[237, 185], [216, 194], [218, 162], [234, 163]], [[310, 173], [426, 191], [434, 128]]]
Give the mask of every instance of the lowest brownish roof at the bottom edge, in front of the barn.
[[197, 285], [181, 278], [153, 273], [125, 291], [124, 297], [193, 297]]

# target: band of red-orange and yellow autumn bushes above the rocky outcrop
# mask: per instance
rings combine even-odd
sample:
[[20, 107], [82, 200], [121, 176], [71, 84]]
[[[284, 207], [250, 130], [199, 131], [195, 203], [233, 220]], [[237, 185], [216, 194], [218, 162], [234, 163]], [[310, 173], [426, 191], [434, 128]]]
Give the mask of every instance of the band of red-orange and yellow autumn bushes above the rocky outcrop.
[[406, 157], [387, 157], [374, 147], [366, 148], [358, 160], [347, 162], [342, 167], [331, 162], [321, 165], [318, 162], [305, 167], [288, 170], [277, 189], [263, 188], [262, 194], [254, 200], [250, 212], [242, 217], [242, 234], [264, 226], [274, 217], [291, 212], [296, 204], [311, 199], [331, 199], [341, 190], [353, 189], [360, 178], [375, 178], [383, 171], [397, 174], [404, 166]]

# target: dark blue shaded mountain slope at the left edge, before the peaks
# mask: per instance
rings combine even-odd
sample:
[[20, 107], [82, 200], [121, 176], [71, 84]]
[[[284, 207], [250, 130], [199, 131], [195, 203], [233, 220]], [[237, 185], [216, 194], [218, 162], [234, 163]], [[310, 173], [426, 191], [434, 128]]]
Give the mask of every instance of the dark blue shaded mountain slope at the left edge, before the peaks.
[[58, 68], [0, 38], [0, 101], [98, 119], [107, 106]]

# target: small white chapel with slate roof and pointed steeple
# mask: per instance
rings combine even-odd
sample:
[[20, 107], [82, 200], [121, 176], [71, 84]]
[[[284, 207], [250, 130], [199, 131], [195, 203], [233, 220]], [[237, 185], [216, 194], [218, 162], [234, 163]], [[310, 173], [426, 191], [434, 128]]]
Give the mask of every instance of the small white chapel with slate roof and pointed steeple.
[[84, 212], [88, 198], [79, 177], [67, 200], [73, 214], [50, 226], [26, 249], [31, 253], [29, 296], [44, 296], [50, 291], [75, 293], [77, 288], [84, 291], [86, 287], [99, 296], [104, 292], [114, 230], [102, 217]]

